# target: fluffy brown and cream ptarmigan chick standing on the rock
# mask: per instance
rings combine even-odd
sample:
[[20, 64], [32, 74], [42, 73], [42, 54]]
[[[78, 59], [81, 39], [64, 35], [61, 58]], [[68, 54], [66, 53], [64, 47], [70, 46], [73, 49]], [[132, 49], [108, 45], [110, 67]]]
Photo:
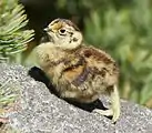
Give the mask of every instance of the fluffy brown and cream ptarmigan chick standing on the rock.
[[55, 19], [44, 30], [50, 42], [37, 48], [38, 61], [58, 94], [63, 99], [91, 103], [107, 92], [111, 96], [111, 108], [94, 111], [112, 115], [115, 122], [120, 116], [115, 61], [104, 51], [87, 47], [79, 28], [70, 20]]

